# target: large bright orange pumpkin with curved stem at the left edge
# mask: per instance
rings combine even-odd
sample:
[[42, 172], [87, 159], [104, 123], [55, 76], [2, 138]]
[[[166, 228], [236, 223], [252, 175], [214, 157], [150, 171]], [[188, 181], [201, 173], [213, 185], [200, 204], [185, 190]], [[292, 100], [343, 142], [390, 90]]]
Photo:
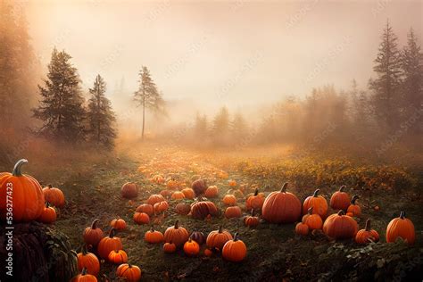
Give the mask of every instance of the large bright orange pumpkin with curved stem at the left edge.
[[16, 162], [12, 173], [0, 173], [0, 218], [25, 222], [37, 220], [44, 211], [44, 194], [38, 181], [21, 173], [27, 160]]

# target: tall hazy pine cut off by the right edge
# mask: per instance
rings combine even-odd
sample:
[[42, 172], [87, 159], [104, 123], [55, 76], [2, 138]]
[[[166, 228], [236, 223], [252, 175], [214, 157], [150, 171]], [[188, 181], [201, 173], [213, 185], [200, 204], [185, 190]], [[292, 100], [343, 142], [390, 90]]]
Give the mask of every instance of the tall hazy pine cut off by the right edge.
[[[409, 119], [423, 106], [423, 54], [412, 29], [402, 51], [402, 74], [404, 118]], [[419, 130], [419, 123], [413, 124], [412, 129]]]

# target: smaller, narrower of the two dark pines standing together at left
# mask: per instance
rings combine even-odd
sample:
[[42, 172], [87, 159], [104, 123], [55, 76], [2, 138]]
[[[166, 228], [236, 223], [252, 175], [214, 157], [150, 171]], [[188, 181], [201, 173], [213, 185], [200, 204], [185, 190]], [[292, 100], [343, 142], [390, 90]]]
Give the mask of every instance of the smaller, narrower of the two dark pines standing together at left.
[[89, 89], [91, 98], [88, 100], [88, 134], [90, 140], [97, 145], [111, 148], [116, 138], [116, 130], [113, 123], [116, 121], [112, 104], [104, 95], [106, 84], [104, 79], [97, 75], [94, 87]]

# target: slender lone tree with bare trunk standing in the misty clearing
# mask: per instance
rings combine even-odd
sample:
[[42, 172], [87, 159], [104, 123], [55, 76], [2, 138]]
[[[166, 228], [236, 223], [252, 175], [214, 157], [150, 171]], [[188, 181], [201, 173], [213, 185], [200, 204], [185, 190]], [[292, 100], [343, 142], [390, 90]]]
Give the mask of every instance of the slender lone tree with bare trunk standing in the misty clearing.
[[134, 94], [134, 100], [138, 106], [143, 107], [143, 129], [142, 138], [144, 139], [145, 131], [145, 109], [153, 112], [163, 111], [164, 101], [162, 94], [157, 90], [157, 87], [152, 79], [150, 71], [147, 67], [143, 66], [139, 71], [139, 87]]

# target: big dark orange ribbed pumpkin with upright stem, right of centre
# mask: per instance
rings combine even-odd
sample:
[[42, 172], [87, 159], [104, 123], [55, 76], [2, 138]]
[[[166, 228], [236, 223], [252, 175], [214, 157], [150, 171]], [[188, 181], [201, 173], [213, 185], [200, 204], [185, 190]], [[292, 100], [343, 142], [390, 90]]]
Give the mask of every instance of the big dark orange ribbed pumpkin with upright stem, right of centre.
[[292, 223], [301, 216], [301, 202], [296, 195], [286, 192], [287, 183], [280, 191], [268, 195], [261, 209], [261, 217], [270, 223]]

